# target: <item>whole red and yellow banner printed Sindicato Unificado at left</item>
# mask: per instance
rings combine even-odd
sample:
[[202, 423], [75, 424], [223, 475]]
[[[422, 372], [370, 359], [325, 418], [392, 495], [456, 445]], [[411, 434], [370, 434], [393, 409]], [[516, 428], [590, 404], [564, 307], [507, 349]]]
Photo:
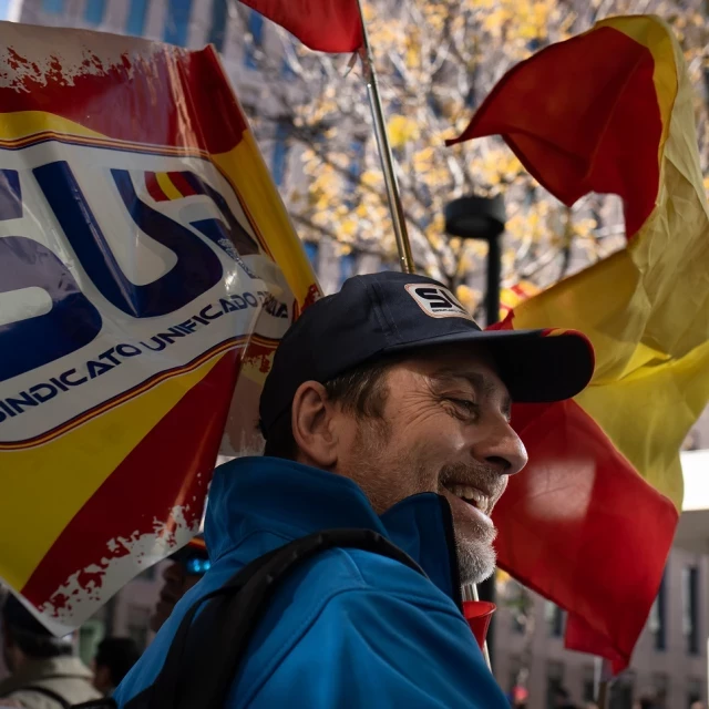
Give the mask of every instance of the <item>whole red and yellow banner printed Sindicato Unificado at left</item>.
[[64, 633], [198, 530], [318, 289], [214, 50], [0, 38], [0, 577]]

